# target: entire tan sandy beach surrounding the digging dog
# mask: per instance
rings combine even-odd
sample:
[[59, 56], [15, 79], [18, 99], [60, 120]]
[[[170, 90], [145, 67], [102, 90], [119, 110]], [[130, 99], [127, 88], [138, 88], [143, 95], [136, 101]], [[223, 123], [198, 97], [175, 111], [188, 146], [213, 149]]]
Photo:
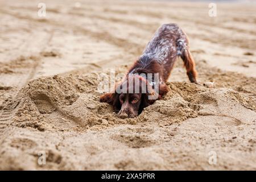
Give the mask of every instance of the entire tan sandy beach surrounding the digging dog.
[[[256, 169], [255, 4], [217, 3], [210, 18], [200, 2], [79, 2], [46, 1], [40, 18], [34, 1], [0, 1], [0, 169]], [[170, 22], [201, 85], [177, 60], [163, 100], [118, 118], [98, 76], [125, 73]]]

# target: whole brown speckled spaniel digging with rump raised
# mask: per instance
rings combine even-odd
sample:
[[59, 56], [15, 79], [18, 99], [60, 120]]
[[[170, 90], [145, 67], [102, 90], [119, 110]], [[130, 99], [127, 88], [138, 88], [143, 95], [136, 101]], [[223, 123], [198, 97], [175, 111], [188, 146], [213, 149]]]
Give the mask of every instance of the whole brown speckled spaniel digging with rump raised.
[[180, 56], [191, 82], [196, 80], [195, 61], [189, 51], [188, 37], [177, 24], [163, 24], [129, 69], [113, 93], [105, 93], [101, 102], [112, 105], [121, 118], [137, 117], [144, 107], [168, 92], [166, 81]]

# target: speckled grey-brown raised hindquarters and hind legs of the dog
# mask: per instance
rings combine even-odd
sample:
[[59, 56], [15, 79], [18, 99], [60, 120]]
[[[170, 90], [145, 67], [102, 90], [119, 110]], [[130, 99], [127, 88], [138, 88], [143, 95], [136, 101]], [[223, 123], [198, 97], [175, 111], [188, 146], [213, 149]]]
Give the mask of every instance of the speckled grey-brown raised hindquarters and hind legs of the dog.
[[148, 60], [158, 61], [160, 65], [163, 65], [163, 78], [166, 81], [174, 67], [177, 56], [183, 59], [189, 80], [196, 82], [195, 63], [189, 52], [187, 35], [177, 24], [169, 23], [163, 24], [155, 32], [143, 51], [141, 61], [144, 60], [144, 64], [150, 64]]

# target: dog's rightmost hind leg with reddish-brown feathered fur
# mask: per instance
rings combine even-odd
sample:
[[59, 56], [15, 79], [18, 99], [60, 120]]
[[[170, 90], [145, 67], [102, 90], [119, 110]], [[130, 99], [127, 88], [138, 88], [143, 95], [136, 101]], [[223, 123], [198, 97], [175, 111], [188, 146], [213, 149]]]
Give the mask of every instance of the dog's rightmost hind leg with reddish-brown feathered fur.
[[179, 38], [177, 40], [177, 55], [181, 57], [184, 63], [184, 67], [187, 69], [187, 75], [191, 82], [196, 81], [196, 64], [195, 61], [191, 55], [191, 52], [189, 51], [189, 40], [187, 35], [183, 31], [181, 31], [182, 38]]

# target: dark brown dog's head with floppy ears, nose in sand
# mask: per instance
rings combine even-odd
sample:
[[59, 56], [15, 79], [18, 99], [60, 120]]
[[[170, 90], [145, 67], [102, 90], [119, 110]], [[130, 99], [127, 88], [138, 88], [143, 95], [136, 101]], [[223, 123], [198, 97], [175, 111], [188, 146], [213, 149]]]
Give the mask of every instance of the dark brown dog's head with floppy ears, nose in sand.
[[144, 107], [153, 104], [167, 92], [166, 84], [159, 85], [159, 93], [156, 94], [144, 77], [133, 75], [117, 84], [114, 93], [103, 94], [100, 101], [112, 105], [119, 117], [133, 118], [141, 114]]

